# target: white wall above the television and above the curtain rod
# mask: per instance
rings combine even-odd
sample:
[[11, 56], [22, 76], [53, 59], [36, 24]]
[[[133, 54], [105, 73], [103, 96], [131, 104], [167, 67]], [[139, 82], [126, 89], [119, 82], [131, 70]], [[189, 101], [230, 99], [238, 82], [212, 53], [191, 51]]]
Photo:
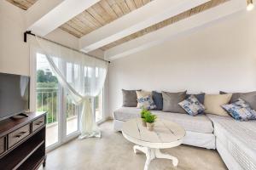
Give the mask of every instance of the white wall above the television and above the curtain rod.
[[[29, 45], [23, 42], [25, 11], [0, 0], [0, 72], [29, 75]], [[79, 48], [77, 37], [59, 29], [47, 38], [71, 48]]]

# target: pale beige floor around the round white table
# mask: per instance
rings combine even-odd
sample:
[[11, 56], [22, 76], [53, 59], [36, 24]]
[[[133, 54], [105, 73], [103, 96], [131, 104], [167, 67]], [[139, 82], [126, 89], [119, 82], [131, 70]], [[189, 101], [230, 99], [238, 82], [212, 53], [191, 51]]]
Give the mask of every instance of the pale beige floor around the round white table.
[[[143, 170], [146, 157], [135, 155], [131, 142], [122, 133], [113, 131], [113, 122], [100, 126], [102, 138], [74, 139], [47, 154], [46, 170]], [[177, 156], [177, 167], [172, 161], [155, 159], [149, 170], [226, 170], [216, 150], [180, 145], [163, 150]], [[41, 168], [42, 169], [42, 168]]]

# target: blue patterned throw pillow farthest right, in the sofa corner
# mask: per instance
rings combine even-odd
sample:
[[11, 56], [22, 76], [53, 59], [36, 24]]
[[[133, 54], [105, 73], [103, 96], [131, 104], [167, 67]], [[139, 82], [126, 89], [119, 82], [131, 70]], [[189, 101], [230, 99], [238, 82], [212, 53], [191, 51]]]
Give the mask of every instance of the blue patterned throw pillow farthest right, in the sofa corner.
[[228, 111], [237, 121], [248, 121], [256, 119], [256, 111], [243, 99], [237, 99], [230, 105], [222, 105], [225, 111]]

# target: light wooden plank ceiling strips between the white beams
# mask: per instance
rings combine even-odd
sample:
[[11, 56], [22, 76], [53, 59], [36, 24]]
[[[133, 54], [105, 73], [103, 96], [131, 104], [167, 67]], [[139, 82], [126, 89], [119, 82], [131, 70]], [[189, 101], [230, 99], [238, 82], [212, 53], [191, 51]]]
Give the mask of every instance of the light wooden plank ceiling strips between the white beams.
[[[9, 3], [15, 4], [24, 10], [30, 8], [32, 4], [36, 3], [38, 0], [6, 0]], [[86, 34], [96, 29], [106, 26], [113, 20], [117, 20], [125, 14], [130, 13], [137, 8], [143, 7], [147, 3], [153, 0], [101, 0], [100, 2], [87, 8], [81, 14], [75, 16], [72, 20], [68, 20], [65, 24], [60, 26], [61, 30], [67, 31], [75, 37], [84, 37]], [[203, 3], [200, 6], [191, 8], [181, 14], [177, 14], [172, 18], [163, 20], [154, 26], [149, 26], [141, 31], [137, 31], [127, 37], [123, 37], [115, 42], [111, 42], [103, 46], [102, 50], [107, 50], [122, 44], [124, 42], [129, 42], [137, 37], [142, 37], [149, 32], [157, 31], [165, 26], [170, 26], [179, 20], [189, 18], [194, 14], [199, 14], [209, 8], [214, 8], [221, 3], [225, 3], [230, 0], [211, 0], [207, 3]]]

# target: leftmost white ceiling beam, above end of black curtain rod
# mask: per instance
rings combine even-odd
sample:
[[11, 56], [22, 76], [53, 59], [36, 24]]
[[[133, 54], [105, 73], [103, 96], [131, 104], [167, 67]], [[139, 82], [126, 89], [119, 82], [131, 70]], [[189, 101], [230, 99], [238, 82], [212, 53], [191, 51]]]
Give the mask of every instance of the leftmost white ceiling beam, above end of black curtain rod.
[[26, 30], [45, 36], [99, 1], [40, 0], [26, 11]]

